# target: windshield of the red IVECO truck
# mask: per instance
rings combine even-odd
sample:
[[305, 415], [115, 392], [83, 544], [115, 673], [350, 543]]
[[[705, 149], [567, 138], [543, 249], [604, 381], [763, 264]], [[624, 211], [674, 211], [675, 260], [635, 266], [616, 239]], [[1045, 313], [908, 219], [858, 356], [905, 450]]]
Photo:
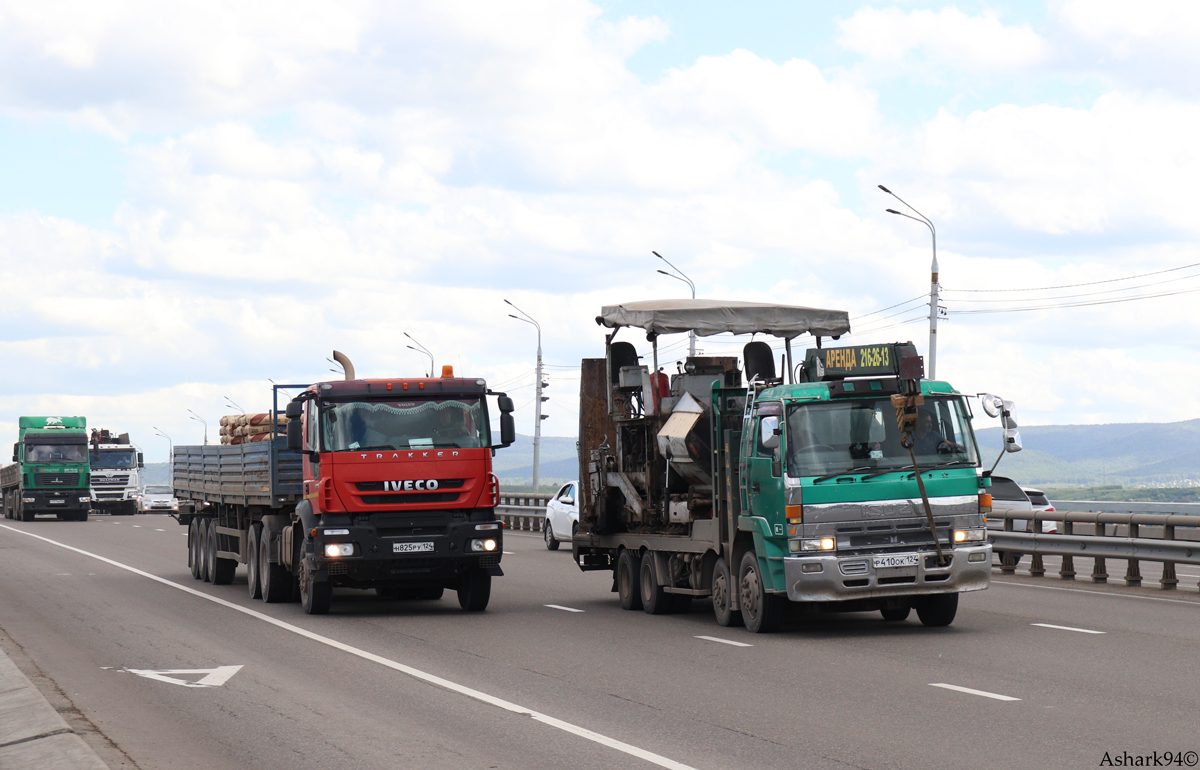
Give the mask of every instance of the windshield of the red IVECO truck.
[[479, 398], [349, 401], [323, 404], [326, 451], [491, 446], [487, 413]]

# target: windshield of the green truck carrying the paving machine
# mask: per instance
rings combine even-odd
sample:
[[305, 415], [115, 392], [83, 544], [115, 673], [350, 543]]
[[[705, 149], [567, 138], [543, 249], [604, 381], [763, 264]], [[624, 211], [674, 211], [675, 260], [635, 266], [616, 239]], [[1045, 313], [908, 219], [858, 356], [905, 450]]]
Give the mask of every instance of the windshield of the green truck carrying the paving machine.
[[[769, 417], [763, 419], [769, 420]], [[918, 408], [913, 451], [923, 467], [959, 461], [978, 465], [979, 455], [962, 398], [925, 397]], [[859, 473], [911, 468], [900, 446], [895, 409], [887, 398], [790, 404], [787, 474], [823, 476], [852, 468]]]

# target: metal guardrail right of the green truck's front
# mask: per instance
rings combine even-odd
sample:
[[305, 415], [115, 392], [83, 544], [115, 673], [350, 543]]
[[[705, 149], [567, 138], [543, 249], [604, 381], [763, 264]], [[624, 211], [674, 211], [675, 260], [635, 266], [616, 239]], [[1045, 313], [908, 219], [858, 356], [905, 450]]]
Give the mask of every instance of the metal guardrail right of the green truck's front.
[[[1108, 583], [1106, 559], [1123, 559], [1127, 563], [1126, 585], [1141, 585], [1140, 561], [1162, 561], [1163, 577], [1159, 586], [1163, 590], [1175, 590], [1178, 578], [1175, 575], [1176, 564], [1200, 564], [1200, 511], [1190, 512], [1188, 504], [1146, 504], [1146, 503], [1087, 503], [1055, 501], [1058, 505], [1092, 507], [1090, 511], [1006, 511], [989, 513], [989, 519], [1004, 522], [1003, 530], [988, 530], [988, 536], [997, 551], [1004, 552], [1001, 558], [1001, 572], [1013, 575], [1016, 571], [1014, 554], [1031, 554], [1030, 575], [1045, 575], [1043, 555], [1062, 557], [1058, 576], [1064, 580], [1075, 579], [1075, 558], [1094, 559], [1092, 569], [1093, 583]], [[1110, 506], [1120, 511], [1094, 509]], [[1148, 506], [1154, 512], [1142, 512]], [[1194, 506], [1200, 509], [1200, 506]], [[1133, 510], [1130, 510], [1133, 509]], [[1187, 510], [1187, 513], [1176, 511]], [[1014, 522], [1034, 522], [1031, 529], [1036, 531], [1013, 531]], [[1061, 523], [1058, 534], [1043, 534], [1036, 522]], [[1085, 530], [1075, 531], [1081, 525]], [[1109, 527], [1111, 525], [1111, 534]]]

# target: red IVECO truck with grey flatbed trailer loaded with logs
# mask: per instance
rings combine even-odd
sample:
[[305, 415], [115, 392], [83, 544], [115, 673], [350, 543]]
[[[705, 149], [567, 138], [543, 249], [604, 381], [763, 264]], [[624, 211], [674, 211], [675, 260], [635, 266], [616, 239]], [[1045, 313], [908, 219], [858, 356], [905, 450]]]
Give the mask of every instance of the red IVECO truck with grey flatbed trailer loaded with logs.
[[449, 366], [440, 378], [366, 380], [334, 356], [344, 381], [275, 386], [270, 425], [280, 389], [302, 391], [287, 404], [284, 434], [175, 447], [192, 575], [228, 584], [245, 564], [252, 597], [299, 595], [310, 614], [329, 612], [335, 586], [392, 598], [451, 588], [463, 609], [486, 608], [503, 575], [492, 455], [514, 441], [512, 399]]

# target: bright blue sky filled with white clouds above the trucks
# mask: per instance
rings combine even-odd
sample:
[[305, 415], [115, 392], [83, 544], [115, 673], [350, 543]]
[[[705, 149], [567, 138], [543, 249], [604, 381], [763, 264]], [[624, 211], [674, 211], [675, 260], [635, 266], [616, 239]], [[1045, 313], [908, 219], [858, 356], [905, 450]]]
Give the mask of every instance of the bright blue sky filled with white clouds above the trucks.
[[930, 230], [878, 185], [937, 230], [940, 379], [1198, 417], [1198, 36], [1166, 0], [0, 0], [0, 440], [82, 414], [162, 461], [334, 349], [420, 375], [413, 339], [532, 433], [504, 300], [574, 435], [600, 307], [690, 291], [652, 251], [925, 354]]

